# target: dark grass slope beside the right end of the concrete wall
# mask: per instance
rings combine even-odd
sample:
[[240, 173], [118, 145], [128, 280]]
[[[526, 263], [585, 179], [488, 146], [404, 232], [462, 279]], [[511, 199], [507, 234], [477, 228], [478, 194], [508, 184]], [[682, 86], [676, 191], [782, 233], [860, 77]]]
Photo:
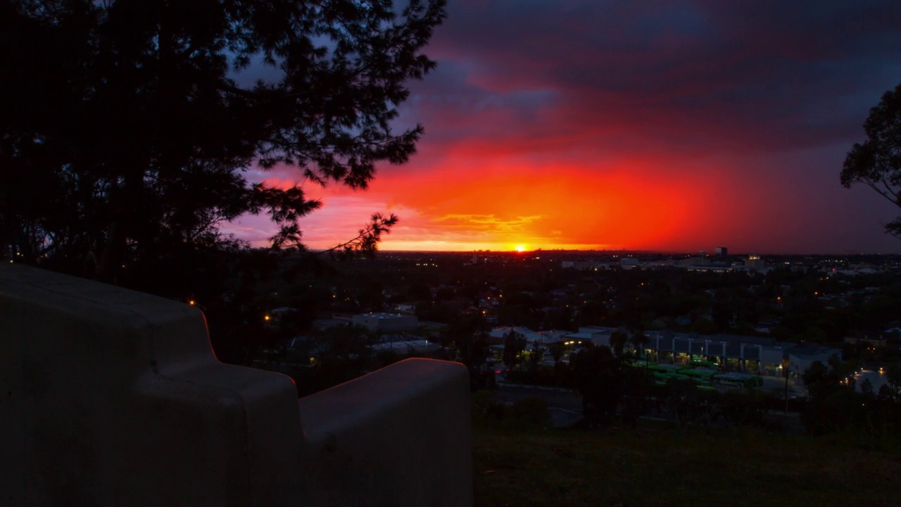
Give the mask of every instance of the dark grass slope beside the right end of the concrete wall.
[[473, 430], [478, 507], [901, 506], [901, 456], [836, 438], [666, 426]]

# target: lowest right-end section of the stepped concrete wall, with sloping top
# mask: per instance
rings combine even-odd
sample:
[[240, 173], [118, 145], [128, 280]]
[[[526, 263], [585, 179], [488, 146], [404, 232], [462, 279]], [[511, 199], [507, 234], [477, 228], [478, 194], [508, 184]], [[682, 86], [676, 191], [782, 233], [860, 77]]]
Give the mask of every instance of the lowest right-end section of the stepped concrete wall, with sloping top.
[[315, 505], [472, 505], [469, 405], [454, 402], [469, 376], [447, 364], [406, 360], [300, 400]]

